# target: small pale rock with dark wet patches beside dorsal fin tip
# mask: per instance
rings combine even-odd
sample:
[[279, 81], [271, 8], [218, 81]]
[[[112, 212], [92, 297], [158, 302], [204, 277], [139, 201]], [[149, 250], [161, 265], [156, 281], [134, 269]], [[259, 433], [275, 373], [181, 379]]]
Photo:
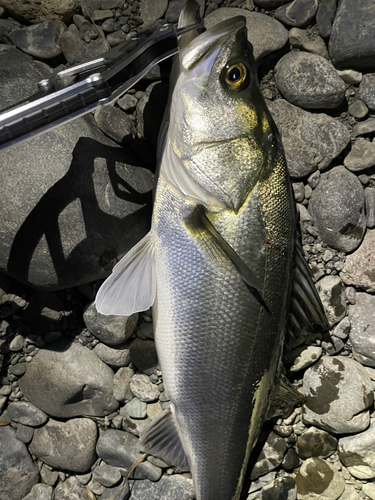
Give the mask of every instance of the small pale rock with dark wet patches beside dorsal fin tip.
[[330, 326], [336, 325], [346, 314], [345, 287], [339, 276], [325, 276], [316, 283]]

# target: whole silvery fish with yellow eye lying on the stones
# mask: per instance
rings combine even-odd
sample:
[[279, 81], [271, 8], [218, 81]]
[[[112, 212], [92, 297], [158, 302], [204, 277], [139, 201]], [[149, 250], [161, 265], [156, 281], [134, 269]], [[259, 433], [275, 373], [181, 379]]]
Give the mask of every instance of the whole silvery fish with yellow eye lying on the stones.
[[[189, 0], [180, 25], [196, 11]], [[141, 434], [143, 450], [190, 470], [196, 500], [238, 500], [278, 399], [286, 332], [327, 324], [245, 18], [189, 34], [177, 64], [151, 230], [96, 308], [152, 306], [170, 405]]]

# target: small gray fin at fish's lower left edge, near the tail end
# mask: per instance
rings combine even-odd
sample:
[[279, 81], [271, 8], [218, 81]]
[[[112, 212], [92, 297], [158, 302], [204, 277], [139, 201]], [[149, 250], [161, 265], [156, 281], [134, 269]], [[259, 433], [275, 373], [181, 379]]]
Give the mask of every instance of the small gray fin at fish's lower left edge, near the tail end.
[[141, 432], [140, 448], [181, 470], [190, 470], [173, 416], [173, 405], [169, 405]]

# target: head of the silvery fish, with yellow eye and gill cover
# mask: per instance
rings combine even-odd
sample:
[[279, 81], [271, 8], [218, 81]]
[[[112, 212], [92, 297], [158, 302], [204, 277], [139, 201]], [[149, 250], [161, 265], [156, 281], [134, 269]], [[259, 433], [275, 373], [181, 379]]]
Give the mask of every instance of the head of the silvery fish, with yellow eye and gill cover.
[[259, 89], [246, 19], [237, 16], [198, 35], [180, 50], [180, 67], [172, 148], [217, 206], [238, 212], [279, 141]]

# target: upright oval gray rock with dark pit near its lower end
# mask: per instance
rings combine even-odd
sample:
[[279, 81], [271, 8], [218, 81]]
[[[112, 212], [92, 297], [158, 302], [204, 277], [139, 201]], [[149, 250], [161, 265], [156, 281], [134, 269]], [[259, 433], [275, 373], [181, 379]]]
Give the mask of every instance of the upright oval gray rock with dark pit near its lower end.
[[366, 229], [364, 201], [361, 182], [345, 167], [323, 174], [309, 203], [322, 240], [339, 251], [355, 250]]

